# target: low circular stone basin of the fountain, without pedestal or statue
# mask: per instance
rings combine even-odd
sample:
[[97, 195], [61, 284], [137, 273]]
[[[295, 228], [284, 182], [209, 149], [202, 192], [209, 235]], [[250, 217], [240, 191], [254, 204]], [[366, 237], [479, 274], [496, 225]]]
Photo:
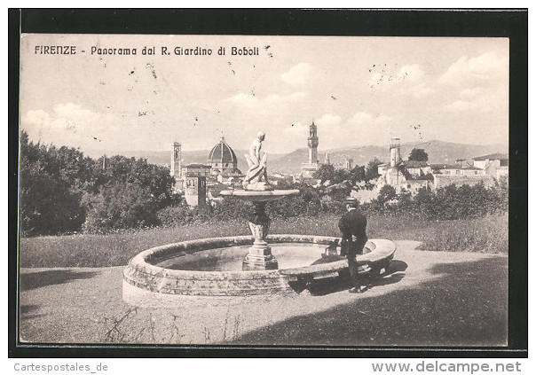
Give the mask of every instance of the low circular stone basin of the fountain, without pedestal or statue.
[[[271, 235], [266, 238], [280, 264], [279, 270], [241, 270], [241, 262], [253, 243], [249, 236], [206, 238], [158, 246], [132, 258], [123, 271], [123, 300], [146, 297], [247, 296], [294, 293], [293, 283], [338, 277], [348, 268], [345, 258], [322, 256], [336, 238]], [[371, 239], [363, 255], [361, 272], [389, 265], [396, 246], [387, 239]]]

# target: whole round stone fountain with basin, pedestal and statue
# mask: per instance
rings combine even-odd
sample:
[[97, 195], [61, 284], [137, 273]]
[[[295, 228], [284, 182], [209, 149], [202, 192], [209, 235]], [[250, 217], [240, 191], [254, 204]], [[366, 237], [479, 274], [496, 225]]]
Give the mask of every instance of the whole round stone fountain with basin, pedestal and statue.
[[[124, 301], [141, 306], [155, 299], [175, 304], [192, 295], [296, 293], [303, 289], [296, 289], [296, 285], [340, 277], [348, 270], [348, 262], [339, 255], [322, 262], [326, 246], [333, 245], [337, 238], [268, 235], [271, 220], [266, 215], [266, 204], [299, 191], [277, 190], [268, 182], [267, 157], [261, 152], [263, 141], [264, 133], [259, 132], [246, 155], [249, 168], [243, 189], [221, 191], [225, 197], [244, 199], [253, 205], [248, 219], [253, 238], [203, 238], [145, 250], [132, 258], [123, 271]], [[279, 261], [272, 254], [274, 250]], [[396, 246], [387, 239], [369, 240], [364, 254], [359, 255], [359, 272], [379, 273], [386, 269], [395, 250]]]

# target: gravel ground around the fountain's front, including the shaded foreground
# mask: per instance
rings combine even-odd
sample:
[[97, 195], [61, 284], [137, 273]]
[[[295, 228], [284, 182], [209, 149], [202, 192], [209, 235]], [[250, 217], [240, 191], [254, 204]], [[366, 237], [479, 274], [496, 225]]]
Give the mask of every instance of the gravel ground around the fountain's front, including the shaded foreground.
[[364, 294], [318, 283], [293, 295], [122, 301], [122, 267], [23, 269], [20, 340], [47, 343], [506, 345], [508, 257], [415, 251]]

